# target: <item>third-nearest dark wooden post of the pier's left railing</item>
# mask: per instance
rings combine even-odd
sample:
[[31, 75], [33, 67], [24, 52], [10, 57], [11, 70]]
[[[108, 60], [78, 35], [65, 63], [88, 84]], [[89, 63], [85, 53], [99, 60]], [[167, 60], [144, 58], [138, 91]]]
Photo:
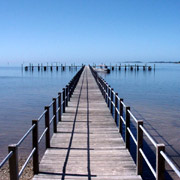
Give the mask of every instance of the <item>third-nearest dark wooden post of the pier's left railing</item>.
[[46, 149], [50, 148], [50, 125], [49, 125], [49, 106], [45, 106], [45, 127], [47, 128], [46, 131]]

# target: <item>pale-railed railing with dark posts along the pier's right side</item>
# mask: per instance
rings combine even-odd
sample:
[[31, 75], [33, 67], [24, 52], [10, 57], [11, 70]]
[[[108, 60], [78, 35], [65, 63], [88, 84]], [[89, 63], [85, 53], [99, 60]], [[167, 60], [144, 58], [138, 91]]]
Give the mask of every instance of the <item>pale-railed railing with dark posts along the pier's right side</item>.
[[[159, 179], [159, 173], [162, 173], [160, 171], [162, 171], [162, 169], [158, 169], [158, 165], [156, 164], [156, 171], [153, 169], [152, 165], [150, 164], [149, 160], [147, 159], [146, 155], [144, 154], [141, 145], [143, 143], [143, 133], [146, 135], [146, 137], [150, 140], [150, 142], [154, 145], [154, 147], [157, 149], [159, 149], [159, 147], [164, 147], [163, 144], [157, 144], [156, 141], [151, 137], [151, 135], [147, 132], [147, 130], [143, 127], [143, 121], [139, 121], [137, 120], [137, 118], [133, 115], [133, 113], [130, 111], [130, 109], [127, 109], [128, 114], [130, 115], [130, 117], [133, 118], [133, 120], [138, 124], [137, 126], [137, 140], [134, 137], [132, 131], [130, 130], [130, 117], [129, 115], [126, 114], [126, 118], [129, 119], [124, 119], [123, 118], [123, 107], [127, 108], [127, 106], [125, 105], [125, 103], [123, 101], [121, 101], [121, 99], [119, 98], [119, 96], [115, 93], [115, 91], [113, 90], [113, 88], [111, 88], [111, 86], [108, 85], [108, 83], [97, 73], [95, 72], [92, 67], [90, 66], [91, 72], [96, 80], [96, 82], [99, 85], [99, 88], [105, 98], [105, 101], [108, 105], [108, 107], [111, 109], [111, 112], [113, 111], [113, 109], [115, 109], [115, 112], [119, 114], [119, 132], [122, 133], [122, 124], [120, 121], [122, 121], [124, 123], [124, 125], [126, 126], [126, 134], [127, 132], [130, 134], [130, 136], [132, 137], [133, 141], [135, 142], [136, 146], [137, 146], [137, 157], [136, 158], [141, 158], [141, 156], [139, 155], [139, 153], [141, 153], [142, 157], [144, 158], [144, 160], [146, 161], [147, 165], [149, 166], [151, 172], [153, 173], [153, 175], [155, 176], [156, 179]], [[120, 103], [120, 107], [116, 107], [114, 101], [112, 101], [111, 99], [111, 94], [113, 93], [113, 99], [118, 99], [119, 103]], [[122, 104], [122, 106], [121, 106]], [[113, 105], [113, 106], [112, 106]], [[112, 107], [114, 107], [112, 109]], [[117, 118], [117, 116], [115, 116], [114, 118]], [[117, 119], [115, 119], [116, 122]], [[128, 121], [126, 123], [126, 121]], [[142, 132], [140, 132], [142, 131]], [[129, 141], [129, 136], [127, 136], [128, 139], [125, 138], [125, 141]], [[141, 140], [140, 140], [141, 139]], [[141, 145], [140, 145], [141, 143]], [[127, 145], [127, 142], [126, 142]], [[128, 145], [127, 145], [128, 147]], [[139, 148], [138, 148], [139, 147]], [[129, 147], [128, 147], [129, 148]], [[165, 162], [167, 162], [169, 164], [169, 166], [174, 170], [174, 172], [176, 173], [176, 175], [178, 177], [180, 177], [180, 171], [178, 170], [178, 168], [173, 164], [173, 162], [170, 160], [170, 158], [165, 154], [164, 150], [160, 150], [160, 156], [158, 156], [157, 152], [156, 152], [156, 158], [161, 158], [161, 156], [164, 158]], [[137, 161], [141, 161], [140, 159], [138, 159]], [[136, 162], [137, 162], [136, 161]], [[159, 160], [156, 160], [156, 163], [158, 163]], [[162, 159], [161, 159], [162, 161]], [[139, 165], [139, 163], [137, 164], [137, 174], [141, 175], [142, 173], [142, 166]], [[165, 170], [165, 169], [164, 169]], [[158, 173], [159, 172], [159, 173]], [[162, 179], [162, 178], [161, 178]]]

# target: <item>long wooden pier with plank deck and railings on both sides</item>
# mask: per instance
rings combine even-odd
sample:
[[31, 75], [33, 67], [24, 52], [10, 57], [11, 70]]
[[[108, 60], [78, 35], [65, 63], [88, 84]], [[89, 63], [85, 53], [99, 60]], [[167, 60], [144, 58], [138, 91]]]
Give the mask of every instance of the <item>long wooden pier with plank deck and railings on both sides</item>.
[[[43, 120], [45, 127], [39, 124]], [[131, 121], [136, 124], [135, 132]], [[29, 135], [32, 150], [20, 167], [18, 150]], [[144, 137], [155, 148], [155, 166], [143, 148]], [[40, 159], [42, 143], [46, 151]], [[136, 164], [129, 153], [131, 143], [135, 145]], [[23, 176], [30, 159], [33, 159], [34, 180], [138, 180], [146, 177], [143, 161], [156, 180], [165, 179], [167, 165], [180, 178], [165, 145], [154, 140], [143, 121], [136, 119], [130, 107], [91, 66], [79, 69], [39, 118], [32, 120], [32, 126], [19, 142], [8, 146], [8, 151], [0, 168], [9, 162], [10, 180]]]

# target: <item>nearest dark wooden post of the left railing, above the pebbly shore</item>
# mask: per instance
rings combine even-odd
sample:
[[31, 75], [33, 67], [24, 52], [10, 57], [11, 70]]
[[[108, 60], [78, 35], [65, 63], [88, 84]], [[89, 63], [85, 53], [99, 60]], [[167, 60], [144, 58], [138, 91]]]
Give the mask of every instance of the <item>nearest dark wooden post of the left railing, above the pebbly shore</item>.
[[8, 146], [8, 150], [9, 152], [13, 152], [13, 155], [9, 159], [10, 180], [19, 180], [18, 146], [16, 144], [11, 144]]

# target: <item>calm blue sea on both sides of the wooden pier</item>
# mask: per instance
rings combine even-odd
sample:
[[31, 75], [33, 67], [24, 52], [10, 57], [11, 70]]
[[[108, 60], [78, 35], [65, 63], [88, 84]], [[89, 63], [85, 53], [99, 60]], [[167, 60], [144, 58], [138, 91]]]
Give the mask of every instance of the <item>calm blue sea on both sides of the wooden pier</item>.
[[[58, 72], [0, 68], [1, 159], [7, 153], [8, 144], [17, 143], [31, 126], [31, 120], [39, 117], [43, 107], [57, 96], [76, 72], [68, 68]], [[166, 145], [166, 152], [179, 167], [180, 64], [157, 64], [155, 71], [125, 71], [122, 68], [101, 75], [131, 107], [137, 119], [144, 120], [154, 139]], [[148, 150], [152, 162], [153, 150]]]

